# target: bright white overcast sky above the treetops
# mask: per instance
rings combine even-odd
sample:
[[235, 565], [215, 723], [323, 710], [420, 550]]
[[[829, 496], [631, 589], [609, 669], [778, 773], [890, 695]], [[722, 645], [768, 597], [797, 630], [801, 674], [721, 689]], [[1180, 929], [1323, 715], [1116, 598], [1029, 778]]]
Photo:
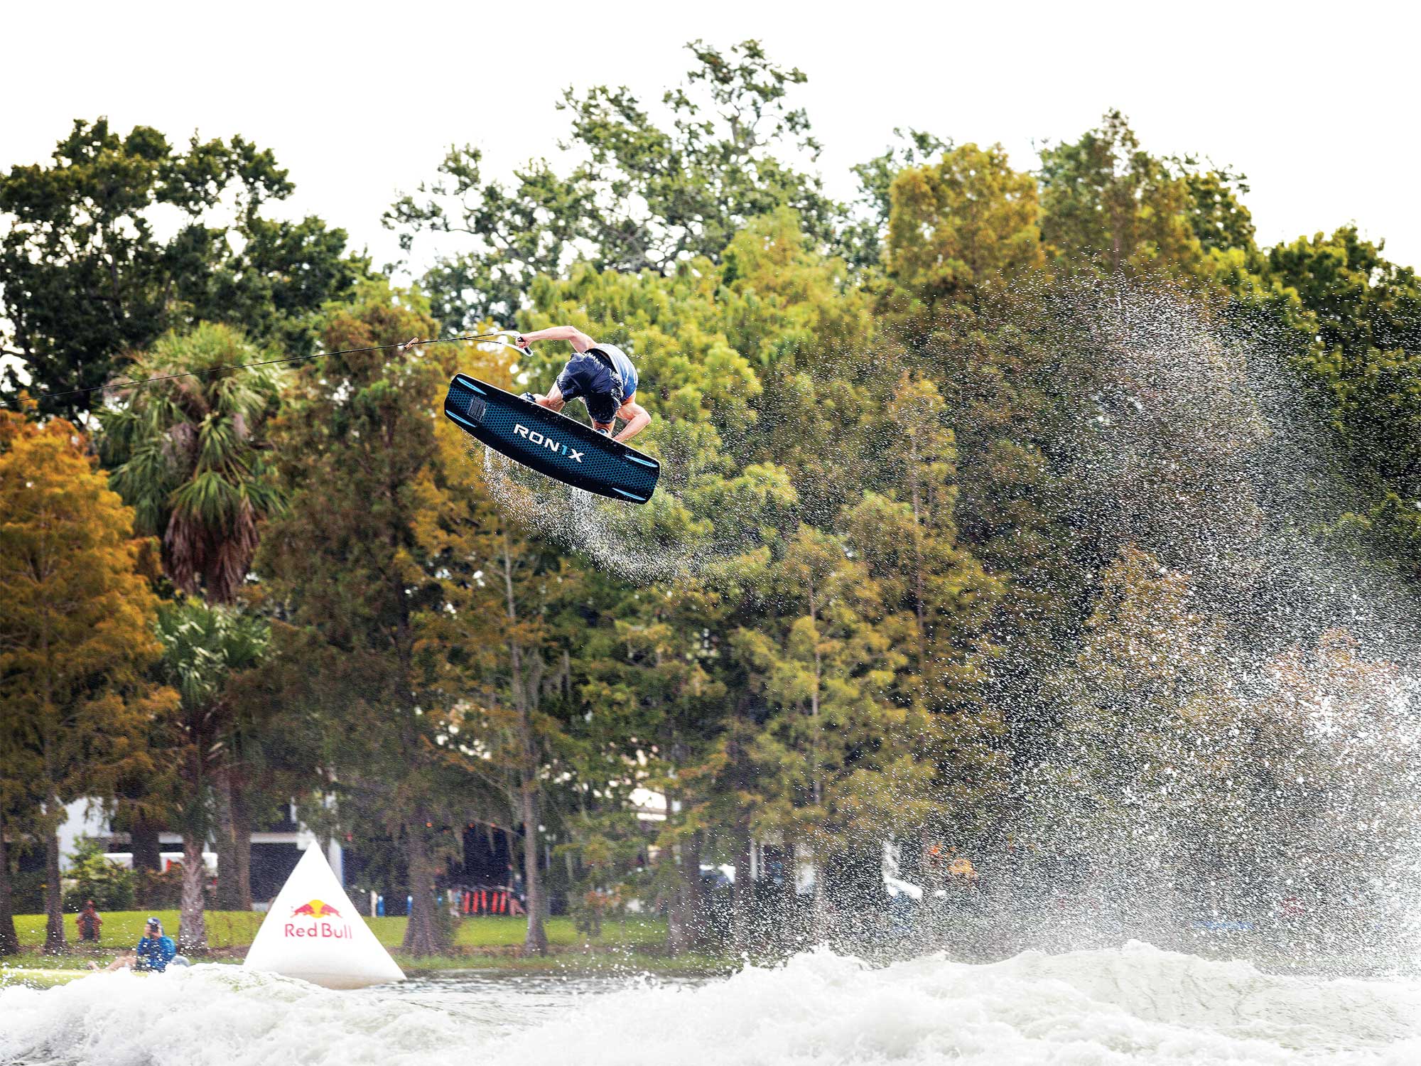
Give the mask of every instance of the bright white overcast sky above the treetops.
[[0, 166], [48, 159], [80, 117], [175, 142], [240, 132], [290, 169], [281, 210], [345, 227], [377, 264], [398, 256], [381, 212], [448, 144], [482, 146], [490, 176], [556, 156], [564, 87], [625, 84], [651, 102], [696, 37], [757, 37], [809, 74], [796, 102], [838, 196], [895, 125], [1000, 141], [1027, 168], [1033, 142], [1118, 107], [1151, 152], [1248, 173], [1262, 242], [1356, 222], [1421, 264], [1421, 27], [1403, 4], [109, 0], [13, 3], [3, 21]]

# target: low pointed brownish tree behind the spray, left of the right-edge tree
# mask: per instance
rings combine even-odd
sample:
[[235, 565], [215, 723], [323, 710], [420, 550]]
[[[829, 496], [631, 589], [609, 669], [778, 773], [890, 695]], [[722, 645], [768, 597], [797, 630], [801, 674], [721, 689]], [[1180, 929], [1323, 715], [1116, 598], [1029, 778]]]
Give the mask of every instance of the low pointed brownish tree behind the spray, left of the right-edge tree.
[[1100, 588], [1073, 662], [1052, 679], [1060, 714], [1033, 812], [1056, 854], [1097, 876], [1135, 867], [1168, 884], [1188, 868], [1206, 809], [1211, 742], [1231, 711], [1229, 648], [1189, 576], [1125, 546]]

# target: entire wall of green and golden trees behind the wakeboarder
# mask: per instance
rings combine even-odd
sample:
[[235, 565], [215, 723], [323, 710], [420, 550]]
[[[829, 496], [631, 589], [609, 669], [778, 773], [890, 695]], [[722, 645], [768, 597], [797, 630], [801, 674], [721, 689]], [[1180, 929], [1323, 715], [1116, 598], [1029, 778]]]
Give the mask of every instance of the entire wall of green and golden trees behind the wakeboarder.
[[[689, 51], [659, 105], [570, 90], [556, 163], [450, 149], [385, 215], [462, 242], [412, 289], [270, 222], [290, 181], [242, 138], [81, 122], [0, 181], [7, 351], [112, 384], [0, 421], [3, 840], [159, 796], [196, 870], [260, 780], [409, 898], [412, 954], [475, 826], [531, 952], [631, 898], [672, 951], [793, 949], [881, 910], [892, 856], [934, 914], [1009, 891], [1023, 928], [1290, 884], [1391, 915], [1414, 270], [1354, 227], [1260, 247], [1241, 173], [1117, 111], [1039, 163], [909, 129], [834, 203], [804, 74]], [[456, 370], [541, 392], [566, 347], [399, 347], [561, 324], [637, 362], [644, 507], [441, 416]]]

